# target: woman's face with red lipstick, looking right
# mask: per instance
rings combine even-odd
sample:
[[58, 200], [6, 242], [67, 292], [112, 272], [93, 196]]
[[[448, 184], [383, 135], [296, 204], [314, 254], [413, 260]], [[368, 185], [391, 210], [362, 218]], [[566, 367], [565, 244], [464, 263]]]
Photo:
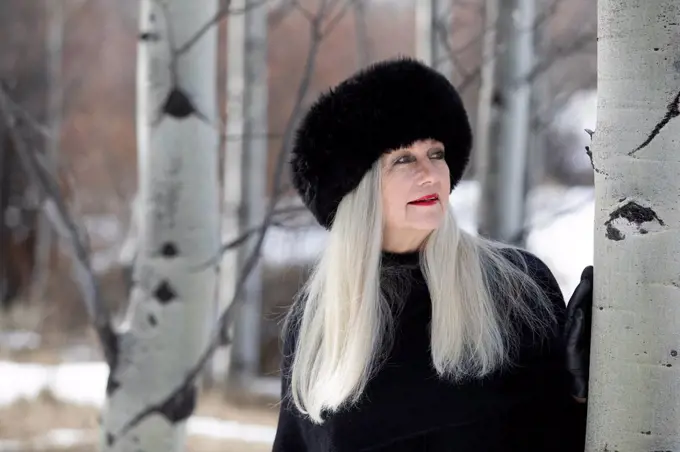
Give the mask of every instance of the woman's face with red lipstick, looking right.
[[[424, 140], [382, 155], [384, 249], [415, 250], [441, 224], [451, 191], [444, 152]], [[414, 202], [423, 197], [429, 201]]]

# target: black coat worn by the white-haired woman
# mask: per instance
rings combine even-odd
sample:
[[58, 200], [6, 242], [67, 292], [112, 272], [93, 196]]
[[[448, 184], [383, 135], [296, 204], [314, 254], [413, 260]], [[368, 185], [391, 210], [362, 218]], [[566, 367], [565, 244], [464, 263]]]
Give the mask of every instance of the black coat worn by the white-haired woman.
[[[483, 380], [452, 384], [431, 365], [431, 303], [420, 270], [414, 276], [387, 362], [367, 385], [358, 405], [325, 417], [322, 426], [304, 419], [287, 397], [273, 452], [581, 452], [586, 405], [569, 394], [559, 339], [565, 302], [550, 270], [526, 253], [530, 273], [552, 294], [558, 325], [547, 342], [527, 329], [514, 368]], [[417, 254], [385, 255], [399, 264]], [[287, 375], [295, 333], [284, 343]], [[282, 379], [282, 396], [290, 390]]]

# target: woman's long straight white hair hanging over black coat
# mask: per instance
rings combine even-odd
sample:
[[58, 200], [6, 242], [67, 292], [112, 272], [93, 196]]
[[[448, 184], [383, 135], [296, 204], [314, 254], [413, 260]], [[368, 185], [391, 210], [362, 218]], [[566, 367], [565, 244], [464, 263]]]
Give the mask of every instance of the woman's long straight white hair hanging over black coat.
[[[379, 162], [340, 203], [327, 245], [283, 325], [284, 340], [291, 331], [297, 338], [290, 396], [319, 424], [322, 411], [358, 401], [393, 339], [386, 294], [394, 288], [381, 278]], [[554, 316], [526, 267], [508, 260], [515, 254], [522, 265], [517, 249], [466, 233], [447, 207], [420, 250], [420, 266], [432, 302], [432, 362], [441, 377], [458, 381], [512, 364], [519, 325], [545, 333]]]

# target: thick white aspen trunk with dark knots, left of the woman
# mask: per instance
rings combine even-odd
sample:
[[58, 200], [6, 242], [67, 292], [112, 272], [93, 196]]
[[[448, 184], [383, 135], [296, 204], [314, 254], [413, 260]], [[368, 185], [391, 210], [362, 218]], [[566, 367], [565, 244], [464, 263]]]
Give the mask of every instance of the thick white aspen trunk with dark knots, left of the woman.
[[196, 388], [183, 386], [184, 379], [214, 322], [216, 269], [205, 263], [219, 247], [216, 29], [176, 64], [171, 48], [216, 12], [217, 0], [141, 2], [137, 132], [143, 216], [131, 304], [107, 386], [105, 451], [185, 448]]

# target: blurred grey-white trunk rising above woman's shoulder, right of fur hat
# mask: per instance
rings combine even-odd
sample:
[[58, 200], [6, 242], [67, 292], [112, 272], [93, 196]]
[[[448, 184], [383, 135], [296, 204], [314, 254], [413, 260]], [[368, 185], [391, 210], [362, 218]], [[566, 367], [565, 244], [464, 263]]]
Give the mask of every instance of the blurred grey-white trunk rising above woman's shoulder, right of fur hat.
[[534, 0], [488, 0], [480, 92], [480, 232], [520, 244], [534, 64]]

